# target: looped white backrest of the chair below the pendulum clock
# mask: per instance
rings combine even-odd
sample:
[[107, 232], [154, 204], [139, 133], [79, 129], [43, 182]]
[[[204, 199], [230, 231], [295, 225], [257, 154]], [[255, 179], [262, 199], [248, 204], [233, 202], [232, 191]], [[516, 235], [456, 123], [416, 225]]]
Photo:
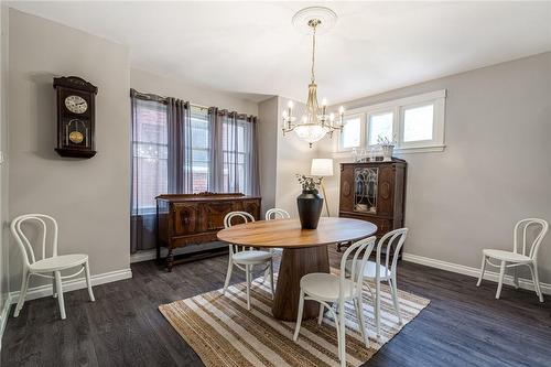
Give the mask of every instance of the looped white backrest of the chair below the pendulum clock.
[[[21, 228], [21, 225], [25, 222], [32, 222], [39, 225], [39, 238], [41, 244], [41, 251], [39, 253], [41, 256], [40, 258], [37, 258], [34, 253], [31, 240], [23, 231], [23, 228]], [[57, 223], [54, 218], [45, 214], [24, 214], [11, 222], [11, 234], [15, 238], [15, 242], [21, 250], [23, 262], [25, 263], [25, 266], [29, 267], [31, 263], [34, 263], [37, 260], [42, 260], [46, 257], [46, 237], [48, 226], [51, 226], [53, 230], [52, 256], [57, 256]]]

